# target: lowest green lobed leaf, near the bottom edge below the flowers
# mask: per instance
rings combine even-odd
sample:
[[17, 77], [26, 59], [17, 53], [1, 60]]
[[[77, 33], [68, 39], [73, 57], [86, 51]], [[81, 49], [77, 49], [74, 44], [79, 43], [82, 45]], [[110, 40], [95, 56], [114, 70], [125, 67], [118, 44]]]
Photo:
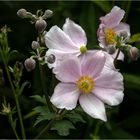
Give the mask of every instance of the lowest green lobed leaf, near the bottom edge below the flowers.
[[51, 130], [56, 130], [60, 136], [69, 135], [70, 129], [75, 129], [75, 127], [68, 120], [57, 120], [51, 126]]

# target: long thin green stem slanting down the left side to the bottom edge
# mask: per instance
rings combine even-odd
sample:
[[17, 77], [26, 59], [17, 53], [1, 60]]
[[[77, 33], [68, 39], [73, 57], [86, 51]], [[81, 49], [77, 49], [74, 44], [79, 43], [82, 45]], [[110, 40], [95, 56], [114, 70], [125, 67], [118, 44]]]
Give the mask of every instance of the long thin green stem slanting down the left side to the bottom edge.
[[22, 120], [22, 115], [21, 115], [21, 110], [20, 110], [20, 105], [19, 105], [19, 100], [18, 100], [18, 95], [17, 95], [16, 90], [14, 88], [14, 85], [12, 83], [12, 79], [11, 79], [11, 76], [10, 76], [10, 73], [9, 73], [9, 70], [8, 70], [8, 67], [7, 67], [7, 63], [5, 62], [5, 59], [4, 59], [5, 57], [3, 56], [2, 53], [1, 53], [1, 56], [2, 56], [2, 59], [3, 59], [3, 62], [4, 62], [5, 70], [6, 70], [6, 73], [7, 73], [8, 80], [9, 80], [10, 85], [11, 85], [12, 92], [13, 92], [13, 95], [14, 95], [14, 98], [15, 98], [22, 137], [23, 137], [23, 139], [26, 139], [23, 120]]

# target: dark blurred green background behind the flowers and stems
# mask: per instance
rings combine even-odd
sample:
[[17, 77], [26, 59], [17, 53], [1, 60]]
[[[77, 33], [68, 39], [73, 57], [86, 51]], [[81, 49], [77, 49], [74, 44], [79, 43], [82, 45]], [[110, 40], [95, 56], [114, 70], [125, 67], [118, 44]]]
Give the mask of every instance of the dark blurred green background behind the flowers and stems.
[[[45, 11], [50, 9], [54, 12], [52, 18], [47, 20], [47, 30], [53, 25], [62, 27], [65, 19], [69, 17], [80, 24], [85, 30], [88, 38], [88, 48], [92, 49], [98, 45], [96, 32], [99, 26], [99, 17], [109, 12], [114, 5], [126, 11], [124, 21], [130, 25], [131, 34], [140, 33], [140, 2], [139, 1], [0, 1], [0, 28], [5, 24], [11, 28], [9, 33], [9, 46], [12, 50], [18, 50], [19, 54], [10, 58], [9, 65], [15, 61], [24, 62], [30, 56], [31, 43], [36, 40], [37, 32], [34, 25], [28, 19], [19, 18], [16, 13], [20, 8], [36, 13], [38, 9]], [[140, 49], [140, 42], [132, 44]], [[108, 122], [103, 123], [99, 129], [99, 137], [109, 138], [140, 138], [140, 59], [136, 62], [119, 62], [117, 66], [124, 75], [124, 101], [117, 107], [107, 108]], [[3, 64], [0, 58], [0, 68]], [[14, 105], [14, 99], [4, 74], [5, 82], [0, 85], [0, 106], [3, 96]], [[46, 76], [47, 75], [46, 72]], [[33, 107], [38, 105], [29, 96], [40, 94], [40, 76], [38, 68], [32, 72], [23, 70], [22, 81], [30, 81], [31, 88], [26, 88], [20, 97], [23, 115], [26, 115]], [[47, 84], [46, 84], [47, 85]], [[78, 123], [76, 130], [71, 130], [67, 137], [60, 137], [55, 131], [50, 131], [42, 138], [76, 138], [90, 139], [93, 137], [97, 120], [85, 116], [86, 123]], [[33, 138], [44, 126], [42, 123], [32, 127], [35, 117], [24, 120], [28, 138]], [[17, 126], [18, 127], [18, 126]], [[12, 129], [5, 116], [0, 115], [0, 138], [15, 138]]]

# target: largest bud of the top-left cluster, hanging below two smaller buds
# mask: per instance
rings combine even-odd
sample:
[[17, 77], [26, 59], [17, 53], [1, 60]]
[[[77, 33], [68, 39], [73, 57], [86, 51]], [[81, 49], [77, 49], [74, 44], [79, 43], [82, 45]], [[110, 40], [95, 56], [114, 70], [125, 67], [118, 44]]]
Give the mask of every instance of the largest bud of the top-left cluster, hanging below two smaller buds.
[[42, 33], [45, 30], [46, 26], [47, 26], [47, 23], [43, 19], [39, 19], [35, 23], [35, 27], [39, 33]]

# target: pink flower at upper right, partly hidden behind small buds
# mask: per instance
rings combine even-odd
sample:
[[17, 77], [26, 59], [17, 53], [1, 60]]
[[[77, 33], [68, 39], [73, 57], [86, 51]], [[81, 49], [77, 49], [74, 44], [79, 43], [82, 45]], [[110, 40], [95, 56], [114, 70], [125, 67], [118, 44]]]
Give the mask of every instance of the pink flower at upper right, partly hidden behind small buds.
[[[118, 6], [114, 6], [110, 13], [100, 18], [101, 23], [97, 31], [97, 36], [101, 48], [105, 48], [108, 51], [110, 46], [115, 47], [117, 44], [117, 36], [122, 36], [123, 42], [130, 38], [129, 25], [121, 22], [124, 14], [124, 10], [120, 9]], [[114, 54], [113, 57], [115, 56]], [[124, 59], [122, 52], [120, 52], [118, 59]]]

